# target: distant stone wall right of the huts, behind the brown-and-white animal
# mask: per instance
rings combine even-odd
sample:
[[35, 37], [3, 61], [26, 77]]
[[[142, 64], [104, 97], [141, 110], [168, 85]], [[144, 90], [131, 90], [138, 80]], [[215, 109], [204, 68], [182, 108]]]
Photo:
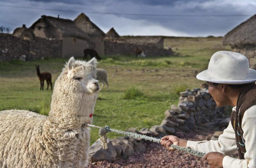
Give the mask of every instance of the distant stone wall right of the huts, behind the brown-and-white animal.
[[105, 39], [105, 55], [135, 55], [135, 48], [140, 47], [146, 56], [172, 55], [172, 49], [159, 48], [153, 44], [135, 44], [126, 39]]

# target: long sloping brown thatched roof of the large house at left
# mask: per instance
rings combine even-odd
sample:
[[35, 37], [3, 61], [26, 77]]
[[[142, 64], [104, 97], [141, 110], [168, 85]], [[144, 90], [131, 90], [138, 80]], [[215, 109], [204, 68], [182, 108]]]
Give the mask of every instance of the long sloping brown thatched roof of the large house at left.
[[60, 34], [62, 34], [63, 37], [76, 37], [80, 39], [89, 39], [89, 37], [79, 27], [77, 27], [76, 24], [70, 19], [62, 19], [62, 18], [43, 15], [34, 24], [32, 24], [30, 28], [34, 29], [35, 26], [39, 26], [39, 27], [53, 26], [57, 29], [57, 31]]

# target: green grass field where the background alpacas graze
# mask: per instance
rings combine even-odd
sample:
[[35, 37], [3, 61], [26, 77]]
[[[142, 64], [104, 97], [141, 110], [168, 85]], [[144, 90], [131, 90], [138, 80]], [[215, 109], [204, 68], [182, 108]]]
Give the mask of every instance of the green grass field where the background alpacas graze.
[[[108, 71], [109, 90], [105, 87], [98, 95], [93, 124], [121, 130], [160, 124], [164, 111], [177, 104], [177, 93], [202, 83], [196, 79], [195, 71], [206, 69], [214, 52], [230, 50], [229, 46], [221, 45], [221, 40], [167, 38], [165, 47], [171, 47], [175, 56], [139, 60], [123, 55], [103, 57], [98, 67]], [[40, 65], [41, 72], [51, 72], [54, 84], [66, 61], [68, 58], [1, 62], [0, 110], [27, 109], [47, 115], [52, 90], [39, 90], [35, 65]], [[109, 133], [108, 136], [119, 135]], [[92, 129], [91, 143], [98, 138], [98, 129]]]

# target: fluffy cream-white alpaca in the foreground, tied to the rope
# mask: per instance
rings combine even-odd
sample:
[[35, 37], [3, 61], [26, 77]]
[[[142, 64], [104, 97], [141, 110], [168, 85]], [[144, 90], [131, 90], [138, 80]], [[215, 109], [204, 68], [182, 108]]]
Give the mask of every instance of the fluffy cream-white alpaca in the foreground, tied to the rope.
[[49, 116], [0, 111], [0, 167], [86, 167], [99, 90], [97, 60], [71, 57], [55, 82]]

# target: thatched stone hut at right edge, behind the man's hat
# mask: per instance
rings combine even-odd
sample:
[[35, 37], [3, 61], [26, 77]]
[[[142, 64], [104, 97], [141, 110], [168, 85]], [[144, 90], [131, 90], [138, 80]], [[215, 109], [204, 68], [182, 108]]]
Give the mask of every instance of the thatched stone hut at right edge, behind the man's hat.
[[250, 68], [256, 69], [256, 15], [236, 26], [223, 38], [223, 45], [244, 54], [250, 62]]

